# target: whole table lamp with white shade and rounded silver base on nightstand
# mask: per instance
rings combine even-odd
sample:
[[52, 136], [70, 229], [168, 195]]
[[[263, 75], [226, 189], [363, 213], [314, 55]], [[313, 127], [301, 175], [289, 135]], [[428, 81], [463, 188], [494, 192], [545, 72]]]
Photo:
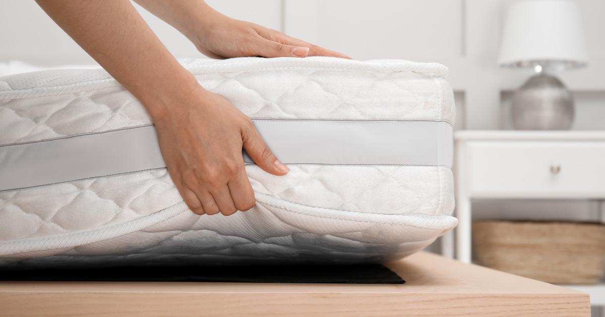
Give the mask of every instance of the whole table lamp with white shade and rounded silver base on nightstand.
[[554, 73], [586, 66], [580, 8], [571, 0], [525, 0], [508, 8], [500, 67], [533, 68], [512, 98], [512, 123], [520, 130], [567, 130], [574, 99]]

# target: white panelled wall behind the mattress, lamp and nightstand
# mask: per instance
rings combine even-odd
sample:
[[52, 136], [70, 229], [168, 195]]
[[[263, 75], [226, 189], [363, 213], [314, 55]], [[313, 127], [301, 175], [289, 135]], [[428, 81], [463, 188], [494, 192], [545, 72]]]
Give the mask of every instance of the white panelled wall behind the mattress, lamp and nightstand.
[[[457, 128], [508, 128], [512, 92], [531, 73], [497, 67], [503, 12], [511, 0], [213, 0], [234, 18], [285, 30], [357, 59], [437, 61], [450, 67], [459, 109]], [[605, 129], [605, 1], [577, 0], [583, 15], [589, 66], [563, 73], [575, 93], [575, 129]], [[200, 56], [180, 33], [140, 10], [175, 56]], [[92, 62], [33, 1], [0, 2], [0, 62], [41, 65]], [[476, 202], [478, 215], [587, 218], [582, 201]], [[532, 216], [535, 218], [535, 216]]]

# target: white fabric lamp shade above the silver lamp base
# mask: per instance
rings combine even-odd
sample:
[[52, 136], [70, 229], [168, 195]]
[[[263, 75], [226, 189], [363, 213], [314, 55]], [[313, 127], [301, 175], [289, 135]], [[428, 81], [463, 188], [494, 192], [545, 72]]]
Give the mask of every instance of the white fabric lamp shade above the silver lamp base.
[[569, 0], [524, 0], [508, 9], [500, 45], [502, 67], [563, 70], [584, 67], [580, 8]]

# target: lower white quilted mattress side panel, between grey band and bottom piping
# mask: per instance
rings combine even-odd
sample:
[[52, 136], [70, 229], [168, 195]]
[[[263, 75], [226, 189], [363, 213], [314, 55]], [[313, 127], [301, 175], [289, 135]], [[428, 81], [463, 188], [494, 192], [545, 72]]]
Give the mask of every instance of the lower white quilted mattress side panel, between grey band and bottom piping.
[[[246, 166], [255, 193], [309, 207], [378, 215], [453, 212], [451, 171], [446, 167], [291, 165], [290, 169], [286, 176], [273, 176], [256, 165]], [[119, 224], [180, 201], [165, 169], [2, 192], [0, 241]]]

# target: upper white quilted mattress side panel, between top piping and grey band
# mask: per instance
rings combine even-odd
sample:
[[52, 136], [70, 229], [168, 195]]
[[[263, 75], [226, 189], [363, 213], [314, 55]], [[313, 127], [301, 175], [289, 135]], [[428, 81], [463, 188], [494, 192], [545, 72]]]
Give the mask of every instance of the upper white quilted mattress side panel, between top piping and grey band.
[[[253, 118], [453, 119], [449, 85], [418, 73], [295, 69], [196, 77]], [[0, 145], [151, 123], [122, 87], [0, 101]]]

